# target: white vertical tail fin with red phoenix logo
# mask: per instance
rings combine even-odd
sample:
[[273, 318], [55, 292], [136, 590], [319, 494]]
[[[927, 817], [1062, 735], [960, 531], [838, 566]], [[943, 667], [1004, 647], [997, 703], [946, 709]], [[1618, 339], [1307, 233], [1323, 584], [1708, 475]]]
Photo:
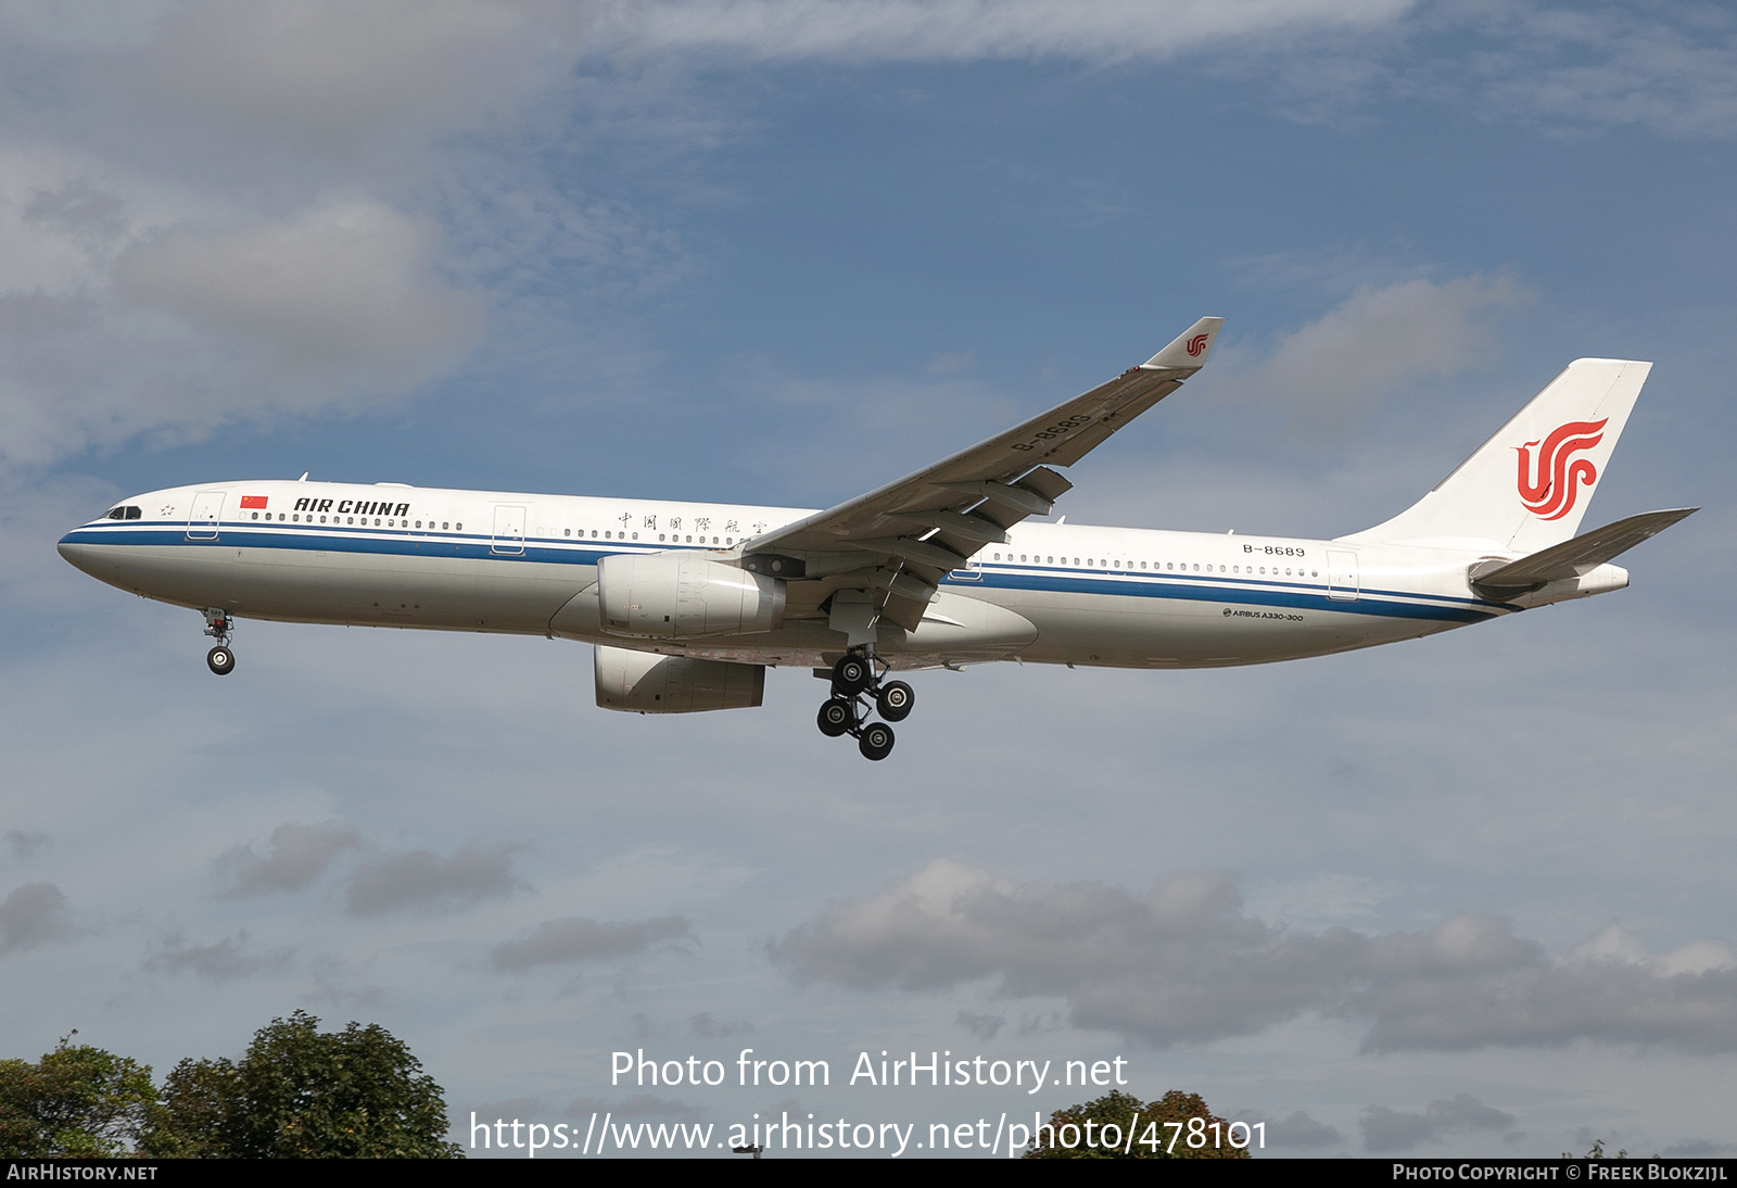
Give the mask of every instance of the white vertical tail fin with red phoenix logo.
[[1572, 538], [1650, 370], [1575, 360], [1433, 492], [1344, 540], [1537, 552]]

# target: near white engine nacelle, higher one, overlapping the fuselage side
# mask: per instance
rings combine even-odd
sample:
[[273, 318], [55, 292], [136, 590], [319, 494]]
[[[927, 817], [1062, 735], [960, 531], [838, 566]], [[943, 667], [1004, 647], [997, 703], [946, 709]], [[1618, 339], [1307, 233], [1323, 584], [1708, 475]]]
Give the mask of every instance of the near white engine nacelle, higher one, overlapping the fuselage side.
[[603, 629], [644, 639], [747, 636], [783, 627], [783, 582], [691, 552], [598, 563]]

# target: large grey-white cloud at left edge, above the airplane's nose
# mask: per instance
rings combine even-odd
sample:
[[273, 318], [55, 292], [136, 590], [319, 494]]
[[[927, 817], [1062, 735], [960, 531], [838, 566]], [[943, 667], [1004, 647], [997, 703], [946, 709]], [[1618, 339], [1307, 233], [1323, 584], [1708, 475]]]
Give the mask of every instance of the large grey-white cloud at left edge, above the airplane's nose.
[[0, 285], [0, 457], [393, 399], [479, 328], [478, 300], [434, 274], [433, 224], [384, 203], [151, 224], [163, 212], [89, 177], [42, 181], [0, 196], [0, 245], [26, 247]]

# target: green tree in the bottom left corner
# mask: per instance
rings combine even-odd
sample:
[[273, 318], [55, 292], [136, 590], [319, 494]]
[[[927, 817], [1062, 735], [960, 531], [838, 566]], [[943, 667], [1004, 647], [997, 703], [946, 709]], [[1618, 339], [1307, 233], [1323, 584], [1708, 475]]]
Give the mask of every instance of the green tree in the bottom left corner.
[[130, 1155], [156, 1105], [149, 1065], [64, 1037], [31, 1065], [0, 1059], [0, 1155]]

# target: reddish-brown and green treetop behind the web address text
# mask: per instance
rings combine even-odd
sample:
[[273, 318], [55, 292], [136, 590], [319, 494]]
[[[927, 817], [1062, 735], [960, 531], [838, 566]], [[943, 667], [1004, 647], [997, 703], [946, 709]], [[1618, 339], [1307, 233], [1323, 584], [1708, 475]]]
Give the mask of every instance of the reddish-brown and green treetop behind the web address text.
[[[1200, 1145], [1190, 1146], [1190, 1138]], [[1197, 1092], [1171, 1089], [1155, 1101], [1141, 1101], [1112, 1089], [1051, 1113], [1032, 1136], [1025, 1158], [1249, 1158], [1249, 1146], [1247, 1138], [1244, 1146], [1230, 1143], [1230, 1124], [1207, 1110]]]

